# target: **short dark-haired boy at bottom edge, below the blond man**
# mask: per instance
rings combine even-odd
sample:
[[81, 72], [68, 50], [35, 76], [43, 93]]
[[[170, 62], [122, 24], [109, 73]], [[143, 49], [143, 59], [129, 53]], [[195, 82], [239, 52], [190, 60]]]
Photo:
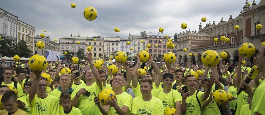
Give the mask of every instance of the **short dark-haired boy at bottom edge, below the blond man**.
[[71, 95], [68, 92], [62, 92], [60, 95], [60, 115], [82, 115], [82, 112], [73, 106], [71, 106]]

